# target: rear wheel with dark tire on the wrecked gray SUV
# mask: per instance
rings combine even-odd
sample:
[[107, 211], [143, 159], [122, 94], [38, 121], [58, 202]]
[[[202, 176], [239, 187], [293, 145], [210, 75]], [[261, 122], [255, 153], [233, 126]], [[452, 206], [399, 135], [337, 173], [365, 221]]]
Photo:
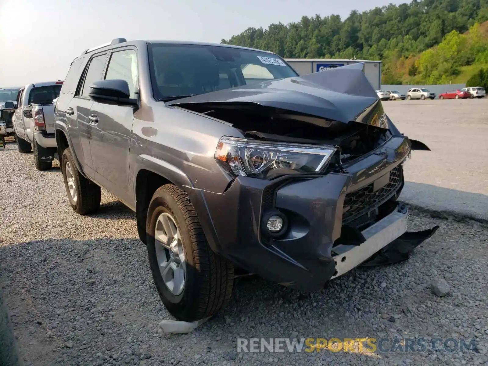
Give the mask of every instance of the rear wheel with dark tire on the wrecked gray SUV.
[[[80, 215], [96, 212], [100, 208], [100, 187], [80, 174], [69, 147], [62, 153], [61, 172], [71, 208]], [[70, 192], [70, 186], [75, 189], [74, 195]]]

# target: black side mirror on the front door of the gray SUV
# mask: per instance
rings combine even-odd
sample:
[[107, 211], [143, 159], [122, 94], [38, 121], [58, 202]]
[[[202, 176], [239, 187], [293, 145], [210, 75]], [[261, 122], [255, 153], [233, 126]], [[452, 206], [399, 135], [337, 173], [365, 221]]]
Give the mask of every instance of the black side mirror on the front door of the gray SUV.
[[130, 105], [136, 107], [139, 100], [130, 98], [129, 84], [125, 80], [99, 80], [90, 85], [88, 96], [95, 102]]

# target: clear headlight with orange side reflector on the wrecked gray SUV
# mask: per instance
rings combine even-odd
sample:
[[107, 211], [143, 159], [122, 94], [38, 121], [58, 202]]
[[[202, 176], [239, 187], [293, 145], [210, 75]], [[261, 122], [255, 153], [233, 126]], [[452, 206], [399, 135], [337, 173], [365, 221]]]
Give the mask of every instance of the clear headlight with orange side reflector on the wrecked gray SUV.
[[234, 175], [271, 179], [284, 174], [318, 174], [337, 149], [331, 145], [307, 145], [223, 137], [215, 160]]

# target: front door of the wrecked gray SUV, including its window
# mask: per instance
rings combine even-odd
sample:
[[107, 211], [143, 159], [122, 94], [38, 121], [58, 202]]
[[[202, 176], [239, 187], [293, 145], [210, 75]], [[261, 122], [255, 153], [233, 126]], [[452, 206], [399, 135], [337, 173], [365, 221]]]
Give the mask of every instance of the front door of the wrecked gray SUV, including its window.
[[[112, 52], [105, 80], [119, 79], [129, 84], [130, 98], [139, 96], [137, 53], [126, 48]], [[129, 144], [134, 108], [94, 102], [89, 116], [90, 149], [97, 181], [124, 202], [129, 193]]]

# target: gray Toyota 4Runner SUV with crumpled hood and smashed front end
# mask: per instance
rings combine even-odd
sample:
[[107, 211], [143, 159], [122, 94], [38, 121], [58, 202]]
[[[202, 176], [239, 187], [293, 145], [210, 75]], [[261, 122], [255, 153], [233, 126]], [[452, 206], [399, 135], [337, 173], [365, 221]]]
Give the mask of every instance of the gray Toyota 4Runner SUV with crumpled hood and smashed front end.
[[103, 187], [136, 212], [161, 299], [177, 319], [215, 314], [240, 273], [320, 290], [395, 263], [411, 150], [354, 64], [298, 74], [243, 47], [115, 39], [76, 58], [55, 106], [67, 196]]

